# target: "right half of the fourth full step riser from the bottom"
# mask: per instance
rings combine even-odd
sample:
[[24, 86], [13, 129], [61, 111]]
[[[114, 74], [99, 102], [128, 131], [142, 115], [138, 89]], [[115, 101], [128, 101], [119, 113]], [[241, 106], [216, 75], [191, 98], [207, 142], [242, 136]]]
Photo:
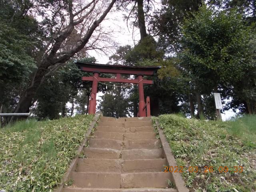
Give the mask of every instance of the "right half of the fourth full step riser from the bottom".
[[158, 149], [161, 147], [159, 139], [140, 139], [124, 141], [124, 150], [126, 149]]

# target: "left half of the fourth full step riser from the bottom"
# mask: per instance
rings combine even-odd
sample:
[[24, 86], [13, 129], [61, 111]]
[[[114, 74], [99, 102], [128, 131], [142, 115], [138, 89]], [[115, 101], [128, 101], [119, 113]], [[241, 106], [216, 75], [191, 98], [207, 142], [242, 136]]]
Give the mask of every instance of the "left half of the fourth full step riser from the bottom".
[[123, 142], [114, 139], [89, 139], [89, 146], [92, 148], [108, 148], [122, 150]]

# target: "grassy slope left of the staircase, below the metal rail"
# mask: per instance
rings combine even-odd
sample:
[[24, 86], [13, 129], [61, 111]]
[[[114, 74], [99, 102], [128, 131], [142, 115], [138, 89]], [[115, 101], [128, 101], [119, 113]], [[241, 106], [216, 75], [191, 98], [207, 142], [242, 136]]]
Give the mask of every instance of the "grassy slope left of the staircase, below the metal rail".
[[0, 190], [51, 191], [76, 156], [92, 118], [31, 120], [0, 129]]

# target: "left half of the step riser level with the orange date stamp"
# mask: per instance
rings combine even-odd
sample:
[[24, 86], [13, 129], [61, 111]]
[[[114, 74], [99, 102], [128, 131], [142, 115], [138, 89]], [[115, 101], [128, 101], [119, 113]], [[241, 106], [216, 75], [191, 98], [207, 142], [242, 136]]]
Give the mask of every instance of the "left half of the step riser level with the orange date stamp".
[[118, 173], [121, 170], [121, 160], [114, 159], [78, 159], [77, 172], [108, 172]]

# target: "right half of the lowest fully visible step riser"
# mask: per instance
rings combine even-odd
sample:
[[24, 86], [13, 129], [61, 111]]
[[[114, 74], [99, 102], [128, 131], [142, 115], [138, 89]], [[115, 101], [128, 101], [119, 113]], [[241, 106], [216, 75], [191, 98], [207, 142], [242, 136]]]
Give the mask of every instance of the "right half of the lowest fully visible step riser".
[[171, 173], [148, 172], [121, 174], [121, 188], [166, 188], [167, 180], [171, 180]]

